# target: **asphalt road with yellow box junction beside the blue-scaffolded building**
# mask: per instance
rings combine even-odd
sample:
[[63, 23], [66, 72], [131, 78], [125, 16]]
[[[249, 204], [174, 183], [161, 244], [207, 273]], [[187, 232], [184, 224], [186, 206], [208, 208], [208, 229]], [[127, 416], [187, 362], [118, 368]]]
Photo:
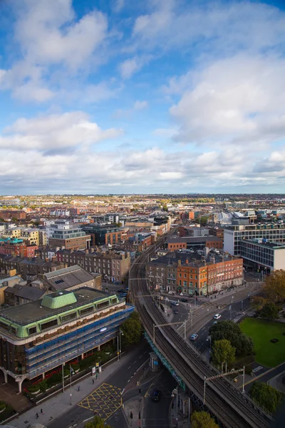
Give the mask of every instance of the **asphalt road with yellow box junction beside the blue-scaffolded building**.
[[[151, 352], [149, 345], [143, 341], [141, 345], [138, 345], [133, 351], [131, 351], [130, 358], [128, 358], [128, 360], [126, 360], [118, 370], [113, 372], [113, 374], [110, 374], [108, 379], [103, 382], [103, 384], [109, 385], [108, 388], [110, 390], [105, 402], [103, 400], [100, 404], [99, 398], [98, 402], [96, 402], [93, 397], [90, 397], [91, 394], [89, 394], [86, 399], [86, 407], [90, 405], [92, 410], [90, 408], [81, 407], [80, 405], [71, 407], [71, 410], [68, 413], [63, 414], [61, 417], [53, 420], [51, 424], [48, 424], [48, 428], [83, 428], [86, 423], [86, 419], [90, 419], [94, 416], [94, 408], [98, 409], [99, 416], [100, 414], [108, 414], [106, 410], [108, 407], [110, 407], [110, 411], [112, 411], [113, 407], [111, 404], [114, 399], [118, 401], [118, 409], [110, 415], [108, 423], [113, 427], [127, 428], [128, 426], [125, 422], [125, 418], [123, 417], [119, 404], [120, 390], [123, 391], [136, 370], [138, 370], [143, 362], [148, 360], [149, 352]], [[103, 394], [103, 388], [101, 386], [98, 384], [98, 387], [94, 387], [94, 390], [100, 389], [99, 392]], [[118, 392], [118, 397], [115, 395], [116, 392]], [[99, 393], [95, 393], [95, 397], [99, 397]], [[100, 404], [100, 408], [98, 407], [98, 404]]]

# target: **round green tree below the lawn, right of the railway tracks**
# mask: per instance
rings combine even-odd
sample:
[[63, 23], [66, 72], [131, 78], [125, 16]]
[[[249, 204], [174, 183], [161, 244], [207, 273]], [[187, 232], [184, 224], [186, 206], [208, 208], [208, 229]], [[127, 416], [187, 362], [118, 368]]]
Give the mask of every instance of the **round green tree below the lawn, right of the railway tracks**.
[[249, 395], [251, 395], [259, 406], [264, 407], [271, 413], [276, 412], [276, 409], [278, 409], [284, 399], [282, 392], [277, 391], [277, 389], [264, 382], [254, 382]]

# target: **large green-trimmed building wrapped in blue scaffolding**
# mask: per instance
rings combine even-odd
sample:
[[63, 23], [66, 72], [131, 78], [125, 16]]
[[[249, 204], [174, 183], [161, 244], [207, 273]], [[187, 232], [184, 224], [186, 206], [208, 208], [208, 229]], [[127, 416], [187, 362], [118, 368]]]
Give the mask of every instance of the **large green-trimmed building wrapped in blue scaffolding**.
[[18, 384], [44, 379], [62, 364], [81, 360], [115, 340], [133, 312], [117, 295], [89, 287], [45, 295], [0, 313], [0, 370]]

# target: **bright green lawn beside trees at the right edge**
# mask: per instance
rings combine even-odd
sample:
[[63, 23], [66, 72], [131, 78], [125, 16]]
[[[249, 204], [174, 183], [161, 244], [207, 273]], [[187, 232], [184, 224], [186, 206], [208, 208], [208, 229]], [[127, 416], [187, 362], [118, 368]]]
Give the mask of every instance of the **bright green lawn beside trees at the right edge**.
[[[240, 327], [254, 341], [255, 361], [265, 367], [275, 367], [285, 361], [285, 324], [246, 318]], [[279, 340], [271, 343], [270, 340]]]

